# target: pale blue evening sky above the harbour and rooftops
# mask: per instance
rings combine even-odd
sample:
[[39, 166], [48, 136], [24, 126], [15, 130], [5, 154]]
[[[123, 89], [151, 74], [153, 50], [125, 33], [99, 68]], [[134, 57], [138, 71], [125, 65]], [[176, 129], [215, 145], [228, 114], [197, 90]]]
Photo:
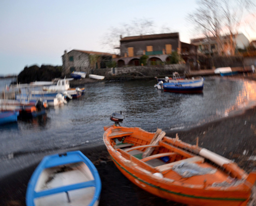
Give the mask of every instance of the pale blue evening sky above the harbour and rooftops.
[[[196, 0], [1, 0], [0, 75], [34, 64], [62, 65], [64, 50], [108, 52], [104, 34], [134, 18], [168, 27], [189, 43], [194, 33], [186, 16], [196, 7]], [[255, 32], [245, 35], [256, 39]]]

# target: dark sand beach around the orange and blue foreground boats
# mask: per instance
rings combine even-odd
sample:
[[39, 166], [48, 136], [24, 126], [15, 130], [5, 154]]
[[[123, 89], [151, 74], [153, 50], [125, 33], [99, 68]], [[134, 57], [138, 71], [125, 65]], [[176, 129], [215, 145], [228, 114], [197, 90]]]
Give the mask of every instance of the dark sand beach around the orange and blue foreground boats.
[[[251, 77], [256, 79], [256, 76]], [[234, 160], [240, 167], [250, 172], [256, 169], [256, 108], [242, 114], [226, 117], [188, 130], [168, 132], [167, 136], [195, 144]], [[125, 126], [125, 125], [124, 125]], [[103, 134], [103, 132], [102, 132]], [[143, 191], [132, 184], [114, 165], [104, 145], [79, 147], [96, 166], [102, 182], [99, 205], [177, 205]], [[73, 150], [73, 149], [72, 149]], [[249, 159], [251, 158], [251, 160]], [[24, 168], [0, 179], [0, 205], [25, 205], [28, 180], [37, 164]]]

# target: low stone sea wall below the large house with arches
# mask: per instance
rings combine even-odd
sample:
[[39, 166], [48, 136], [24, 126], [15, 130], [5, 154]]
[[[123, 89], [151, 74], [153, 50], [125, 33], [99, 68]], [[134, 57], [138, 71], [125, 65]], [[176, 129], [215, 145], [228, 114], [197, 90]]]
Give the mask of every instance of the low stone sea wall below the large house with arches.
[[173, 72], [180, 75], [186, 71], [186, 64], [170, 64], [162, 66], [129, 66], [116, 68], [100, 68], [93, 71], [93, 74], [111, 77], [155, 77], [155, 76], [172, 76]]

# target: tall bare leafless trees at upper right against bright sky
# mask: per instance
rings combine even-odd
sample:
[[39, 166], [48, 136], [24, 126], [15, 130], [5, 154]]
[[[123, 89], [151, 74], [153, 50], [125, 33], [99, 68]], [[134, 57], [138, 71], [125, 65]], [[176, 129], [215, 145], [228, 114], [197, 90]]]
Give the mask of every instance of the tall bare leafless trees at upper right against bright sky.
[[[221, 55], [224, 43], [229, 45], [230, 54], [235, 54], [236, 37], [245, 13], [255, 8], [253, 0], [200, 0], [198, 8], [188, 15], [188, 20], [206, 39], [214, 38], [217, 52]], [[229, 33], [229, 41], [221, 35]], [[210, 47], [210, 45], [209, 45]], [[209, 48], [210, 52], [210, 48]]]

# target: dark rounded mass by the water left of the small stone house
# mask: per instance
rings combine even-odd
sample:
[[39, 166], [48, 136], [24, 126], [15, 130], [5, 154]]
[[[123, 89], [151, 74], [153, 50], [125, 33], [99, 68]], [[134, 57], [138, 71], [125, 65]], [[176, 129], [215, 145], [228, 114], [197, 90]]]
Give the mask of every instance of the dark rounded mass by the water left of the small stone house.
[[37, 65], [25, 67], [18, 75], [19, 83], [30, 83], [33, 81], [51, 81], [62, 76], [62, 66]]

